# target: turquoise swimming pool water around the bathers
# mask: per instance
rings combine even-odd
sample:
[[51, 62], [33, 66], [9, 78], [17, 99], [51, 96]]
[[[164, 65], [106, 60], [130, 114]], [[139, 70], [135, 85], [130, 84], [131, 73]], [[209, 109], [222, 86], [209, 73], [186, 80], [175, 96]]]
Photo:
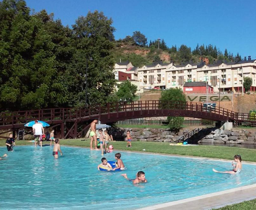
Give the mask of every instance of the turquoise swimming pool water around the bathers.
[[[64, 155], [55, 160], [50, 146], [15, 146], [0, 161], [1, 210], [138, 209], [256, 183], [255, 165], [243, 164], [238, 175], [216, 174], [212, 168], [231, 169], [231, 163], [121, 152], [130, 179], [146, 173], [148, 183], [133, 186], [123, 172], [97, 170], [99, 151], [61, 148]], [[115, 152], [105, 157], [114, 160]]]

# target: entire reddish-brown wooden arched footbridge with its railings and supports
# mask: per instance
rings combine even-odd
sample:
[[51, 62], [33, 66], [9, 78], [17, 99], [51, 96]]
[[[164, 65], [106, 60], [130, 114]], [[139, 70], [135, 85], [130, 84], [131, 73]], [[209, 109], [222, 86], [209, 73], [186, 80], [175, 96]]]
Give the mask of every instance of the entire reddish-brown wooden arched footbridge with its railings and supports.
[[[77, 108], [38, 109], [30, 111], [0, 112], [0, 135], [24, 128], [24, 124], [38, 119], [55, 127], [58, 138], [77, 138], [89, 128], [94, 119], [101, 123], [142, 117], [195, 117], [239, 124], [256, 124], [256, 117], [249, 113], [233, 112], [222, 107], [206, 109], [201, 103], [182, 101], [133, 101], [108, 103]], [[1, 137], [1, 136], [0, 136]]]

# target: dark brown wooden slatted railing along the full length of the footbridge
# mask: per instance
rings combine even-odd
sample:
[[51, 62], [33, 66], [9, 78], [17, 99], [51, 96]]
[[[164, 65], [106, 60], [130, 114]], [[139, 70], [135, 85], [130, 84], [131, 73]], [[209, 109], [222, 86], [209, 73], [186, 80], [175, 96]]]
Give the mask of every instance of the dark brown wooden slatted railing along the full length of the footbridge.
[[202, 103], [185, 102], [185, 101], [132, 101], [131, 103], [115, 102], [102, 105], [94, 105], [88, 107], [76, 108], [55, 108], [55, 109], [37, 109], [31, 111], [17, 111], [17, 112], [0, 112], [0, 126], [25, 124], [31, 120], [82, 120], [83, 117], [90, 117], [92, 115], [99, 115], [111, 112], [126, 112], [149, 109], [171, 109], [171, 110], [187, 110], [196, 112], [210, 112], [218, 114], [225, 119], [238, 121], [256, 121], [255, 115], [249, 113], [237, 113], [224, 109], [222, 107], [215, 107], [214, 109], [206, 109]]

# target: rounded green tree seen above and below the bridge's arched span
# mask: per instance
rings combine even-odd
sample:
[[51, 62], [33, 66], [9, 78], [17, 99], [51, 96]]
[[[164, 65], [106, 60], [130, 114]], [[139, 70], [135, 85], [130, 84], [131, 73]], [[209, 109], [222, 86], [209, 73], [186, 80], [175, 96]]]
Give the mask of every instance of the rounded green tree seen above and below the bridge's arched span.
[[[163, 109], [175, 109], [175, 106], [169, 106], [168, 101], [177, 101], [177, 103], [181, 101], [184, 103], [186, 101], [186, 98], [185, 94], [183, 94], [180, 88], [170, 88], [169, 90], [162, 91], [160, 100], [162, 101]], [[167, 117], [167, 120], [169, 122], [170, 129], [177, 131], [182, 128], [184, 117], [169, 116]]]

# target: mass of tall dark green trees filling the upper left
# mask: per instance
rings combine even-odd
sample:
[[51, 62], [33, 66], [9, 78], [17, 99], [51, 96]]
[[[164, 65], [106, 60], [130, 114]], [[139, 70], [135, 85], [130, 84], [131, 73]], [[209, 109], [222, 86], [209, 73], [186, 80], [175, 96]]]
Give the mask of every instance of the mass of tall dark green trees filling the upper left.
[[89, 12], [72, 27], [46, 11], [31, 14], [24, 0], [0, 2], [0, 109], [108, 101], [115, 86], [112, 19]]

